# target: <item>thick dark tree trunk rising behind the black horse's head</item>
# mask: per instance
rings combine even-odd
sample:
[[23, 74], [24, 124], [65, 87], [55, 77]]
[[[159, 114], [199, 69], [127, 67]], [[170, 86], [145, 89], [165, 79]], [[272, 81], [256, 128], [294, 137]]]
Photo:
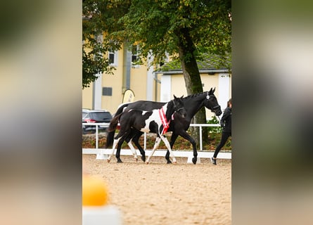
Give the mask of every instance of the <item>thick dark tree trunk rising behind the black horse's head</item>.
[[[194, 51], [196, 50], [193, 41], [190, 37], [189, 30], [183, 28], [179, 32], [179, 59], [181, 61], [181, 68], [186, 84], [187, 94], [196, 94], [203, 92], [203, 86], [200, 78], [200, 72]], [[193, 117], [192, 123], [205, 124], [207, 122], [205, 116], [205, 108], [201, 108], [199, 112]], [[199, 146], [199, 128], [191, 129], [191, 136], [195, 139], [197, 146]], [[208, 142], [207, 129], [203, 129], [203, 143]]]

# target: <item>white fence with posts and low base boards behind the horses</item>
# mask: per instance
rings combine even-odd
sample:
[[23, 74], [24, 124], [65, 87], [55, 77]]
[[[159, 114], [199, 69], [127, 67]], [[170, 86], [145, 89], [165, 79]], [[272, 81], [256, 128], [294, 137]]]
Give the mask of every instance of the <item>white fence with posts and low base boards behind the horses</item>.
[[[98, 148], [98, 126], [101, 127], [108, 127], [108, 123], [84, 123], [83, 125], [87, 125], [87, 126], [96, 126], [96, 148], [83, 148], [82, 149], [82, 153], [83, 154], [97, 154], [97, 155], [108, 155], [109, 153], [112, 152], [112, 149], [104, 149], [104, 148]], [[212, 152], [203, 152], [203, 143], [202, 143], [202, 129], [203, 127], [220, 127], [219, 124], [190, 124], [190, 127], [199, 127], [200, 131], [199, 131], [199, 135], [200, 135], [200, 152], [198, 152], [198, 158], [211, 158], [213, 153]], [[146, 140], [147, 140], [147, 136], [146, 133], [143, 134], [143, 149], [146, 150]], [[147, 150], [146, 150], [147, 151]], [[123, 149], [121, 151], [121, 153], [123, 152], [123, 154], [121, 155], [132, 155], [131, 150], [130, 149]], [[149, 150], [148, 150], [149, 152]], [[158, 152], [158, 153], [157, 153]], [[157, 150], [155, 151], [155, 153], [153, 155], [156, 156], [161, 156], [161, 155], [165, 155], [166, 150]], [[174, 155], [177, 157], [188, 157], [189, 159], [192, 157], [192, 153], [193, 151], [179, 151], [179, 150], [175, 150], [174, 151]], [[137, 154], [140, 155], [139, 151], [137, 151]], [[97, 156], [98, 158], [98, 156]], [[224, 159], [231, 159], [231, 153], [219, 153], [219, 158], [224, 158]]]

